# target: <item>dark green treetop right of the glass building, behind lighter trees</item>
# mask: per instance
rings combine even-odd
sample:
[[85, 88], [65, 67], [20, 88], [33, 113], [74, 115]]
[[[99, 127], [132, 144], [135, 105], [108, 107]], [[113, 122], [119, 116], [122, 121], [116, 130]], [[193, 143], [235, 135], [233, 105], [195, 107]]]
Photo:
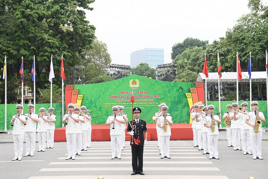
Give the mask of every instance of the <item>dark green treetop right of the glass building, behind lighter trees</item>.
[[195, 46], [202, 47], [203, 50], [205, 50], [206, 46], [208, 44], [208, 41], [202, 41], [197, 38], [187, 37], [184, 39], [182, 43], [176, 43], [172, 46], [172, 53], [171, 53], [171, 59], [174, 60], [177, 55], [180, 55], [184, 50], [187, 48], [193, 48]]

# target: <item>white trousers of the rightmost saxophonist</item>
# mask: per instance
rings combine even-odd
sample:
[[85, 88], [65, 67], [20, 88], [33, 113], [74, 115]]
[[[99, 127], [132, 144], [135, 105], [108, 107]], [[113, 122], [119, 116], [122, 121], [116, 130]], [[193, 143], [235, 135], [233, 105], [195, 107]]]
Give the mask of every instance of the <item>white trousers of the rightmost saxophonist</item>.
[[261, 156], [261, 138], [262, 132], [250, 132], [251, 152], [253, 156]]

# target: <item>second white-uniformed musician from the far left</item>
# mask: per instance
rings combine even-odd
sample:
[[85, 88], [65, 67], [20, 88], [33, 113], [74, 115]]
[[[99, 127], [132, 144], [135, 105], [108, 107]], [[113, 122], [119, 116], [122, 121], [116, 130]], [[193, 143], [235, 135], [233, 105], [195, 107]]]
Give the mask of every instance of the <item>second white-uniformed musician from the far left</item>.
[[35, 114], [34, 105], [28, 105], [29, 113], [26, 115], [26, 126], [25, 126], [25, 141], [26, 141], [26, 156], [33, 156], [35, 153], [35, 139], [36, 139], [36, 123], [39, 121], [38, 115]]

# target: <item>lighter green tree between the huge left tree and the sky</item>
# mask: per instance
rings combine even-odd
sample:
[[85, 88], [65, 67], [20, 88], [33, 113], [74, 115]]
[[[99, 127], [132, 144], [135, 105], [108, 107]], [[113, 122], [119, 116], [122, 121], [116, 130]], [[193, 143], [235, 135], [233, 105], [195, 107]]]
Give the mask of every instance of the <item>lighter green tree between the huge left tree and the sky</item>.
[[95, 39], [93, 49], [85, 52], [85, 81], [104, 74], [104, 70], [109, 68], [111, 57], [107, 50], [107, 45]]

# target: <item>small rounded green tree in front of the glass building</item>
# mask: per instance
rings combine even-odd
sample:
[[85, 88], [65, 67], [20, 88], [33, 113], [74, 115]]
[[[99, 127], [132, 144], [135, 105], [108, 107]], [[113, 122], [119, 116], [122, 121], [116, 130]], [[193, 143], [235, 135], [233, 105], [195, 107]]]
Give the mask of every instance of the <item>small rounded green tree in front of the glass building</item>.
[[156, 77], [156, 69], [149, 67], [147, 63], [140, 63], [136, 68], [132, 68], [130, 70], [132, 74], [137, 74], [140, 76], [143, 76], [143, 72], [145, 71], [145, 76], [146, 77], [152, 77], [152, 79], [155, 79]]

